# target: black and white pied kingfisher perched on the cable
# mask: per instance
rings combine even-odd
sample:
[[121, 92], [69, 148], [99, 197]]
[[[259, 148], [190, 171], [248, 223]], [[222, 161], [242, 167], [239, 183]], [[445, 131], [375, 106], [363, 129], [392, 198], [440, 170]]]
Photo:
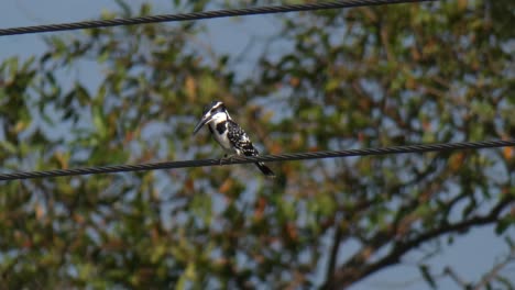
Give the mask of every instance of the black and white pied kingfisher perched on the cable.
[[[246, 133], [232, 121], [222, 102], [213, 101], [204, 109], [202, 118], [195, 126], [194, 134], [205, 124], [208, 125], [209, 132], [226, 152], [244, 156], [260, 154]], [[275, 174], [263, 163], [255, 163], [255, 165], [265, 176], [275, 177]]]

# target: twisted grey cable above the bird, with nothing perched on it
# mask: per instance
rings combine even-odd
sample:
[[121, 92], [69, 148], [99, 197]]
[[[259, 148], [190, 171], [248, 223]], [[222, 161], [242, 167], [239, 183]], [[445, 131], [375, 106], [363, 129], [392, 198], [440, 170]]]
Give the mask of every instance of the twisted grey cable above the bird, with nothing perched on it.
[[425, 2], [425, 1], [437, 1], [437, 0], [340, 0], [340, 1], [321, 2], [321, 3], [227, 9], [227, 10], [204, 11], [204, 12], [180, 13], [180, 14], [140, 16], [140, 18], [131, 18], [131, 19], [94, 20], [94, 21], [70, 22], [70, 23], [62, 23], [62, 24], [3, 29], [3, 30], [0, 30], [0, 36], [28, 34], [28, 33], [54, 32], [54, 31], [98, 29], [98, 27], [109, 27], [109, 26], [119, 26], [119, 25], [147, 24], [147, 23], [156, 23], [156, 22], [202, 20], [202, 19], [215, 19], [215, 18], [273, 14], [273, 13], [285, 13], [285, 12], [341, 9], [341, 8], [362, 7], [362, 5], [381, 5], [381, 4]]

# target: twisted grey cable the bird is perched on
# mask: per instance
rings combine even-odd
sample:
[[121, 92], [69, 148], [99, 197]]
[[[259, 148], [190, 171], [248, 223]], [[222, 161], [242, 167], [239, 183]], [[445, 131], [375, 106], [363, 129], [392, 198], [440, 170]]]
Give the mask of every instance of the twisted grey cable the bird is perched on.
[[255, 161], [291, 161], [305, 159], [351, 157], [351, 156], [370, 156], [370, 155], [388, 155], [402, 153], [426, 153], [426, 152], [446, 152], [457, 149], [480, 149], [492, 147], [515, 146], [515, 140], [508, 141], [483, 141], [483, 142], [461, 142], [461, 143], [440, 143], [440, 144], [420, 144], [407, 146], [394, 146], [384, 148], [369, 149], [349, 149], [349, 150], [327, 150], [327, 152], [309, 152], [309, 153], [289, 153], [280, 155], [263, 155], [256, 157], [235, 156], [230, 159], [201, 159], [201, 160], [184, 160], [184, 161], [166, 161], [139, 165], [116, 165], [116, 166], [99, 166], [76, 169], [57, 169], [47, 171], [25, 171], [13, 174], [0, 174], [0, 180], [20, 180], [31, 178], [51, 178], [62, 176], [80, 176], [80, 175], [98, 175], [98, 174], [114, 174], [128, 171], [144, 171], [155, 169], [172, 169], [172, 168], [188, 168], [201, 166], [219, 166], [230, 164], [249, 164]]

